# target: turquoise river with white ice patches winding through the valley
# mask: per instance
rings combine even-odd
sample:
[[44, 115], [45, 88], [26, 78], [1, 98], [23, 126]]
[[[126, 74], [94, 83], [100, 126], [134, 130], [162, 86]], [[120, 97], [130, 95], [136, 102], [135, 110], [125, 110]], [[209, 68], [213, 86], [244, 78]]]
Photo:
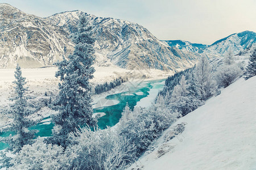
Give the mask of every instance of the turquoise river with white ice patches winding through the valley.
[[[134, 82], [126, 82], [123, 84], [120, 92], [101, 97], [94, 100], [93, 112], [94, 114], [101, 114], [102, 117], [98, 119], [98, 126], [100, 129], [105, 129], [106, 126], [114, 126], [118, 123], [122, 116], [123, 108], [126, 103], [130, 109], [133, 110], [136, 105], [150, 105], [154, 100], [159, 90], [164, 86], [164, 79], [160, 80], [137, 80]], [[53, 124], [51, 117], [45, 117], [38, 125], [30, 129], [39, 130], [36, 136], [49, 137], [52, 133]], [[11, 132], [0, 133], [0, 137], [7, 137]], [[0, 143], [0, 150], [8, 147], [6, 143]]]

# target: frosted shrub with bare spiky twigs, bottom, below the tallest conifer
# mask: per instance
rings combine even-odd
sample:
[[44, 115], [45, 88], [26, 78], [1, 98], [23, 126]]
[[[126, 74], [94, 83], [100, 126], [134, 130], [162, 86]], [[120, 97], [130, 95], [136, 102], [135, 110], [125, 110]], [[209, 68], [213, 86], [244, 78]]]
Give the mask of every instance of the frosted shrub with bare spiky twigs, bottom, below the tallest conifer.
[[71, 169], [125, 169], [135, 159], [134, 144], [110, 129], [82, 128], [70, 138], [75, 145], [68, 150], [78, 155]]

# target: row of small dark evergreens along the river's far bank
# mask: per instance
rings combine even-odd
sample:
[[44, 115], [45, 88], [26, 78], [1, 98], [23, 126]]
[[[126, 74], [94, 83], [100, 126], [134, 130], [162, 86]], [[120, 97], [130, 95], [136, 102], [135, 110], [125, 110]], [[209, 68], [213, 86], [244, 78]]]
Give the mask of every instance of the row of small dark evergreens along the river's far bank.
[[120, 86], [122, 83], [127, 82], [128, 78], [122, 78], [121, 76], [119, 78], [114, 79], [112, 82], [105, 82], [104, 84], [97, 84], [96, 87], [94, 87], [95, 94], [101, 94], [102, 92], [106, 92], [109, 90], [112, 90], [112, 88], [115, 88], [117, 86]]

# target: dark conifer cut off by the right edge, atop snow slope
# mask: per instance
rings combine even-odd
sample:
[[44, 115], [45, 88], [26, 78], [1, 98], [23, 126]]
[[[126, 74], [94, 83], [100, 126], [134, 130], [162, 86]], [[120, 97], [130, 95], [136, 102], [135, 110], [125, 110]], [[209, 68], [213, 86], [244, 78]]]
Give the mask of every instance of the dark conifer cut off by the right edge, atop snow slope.
[[256, 47], [254, 47], [253, 53], [250, 55], [249, 63], [245, 71], [245, 79], [249, 79], [256, 75]]

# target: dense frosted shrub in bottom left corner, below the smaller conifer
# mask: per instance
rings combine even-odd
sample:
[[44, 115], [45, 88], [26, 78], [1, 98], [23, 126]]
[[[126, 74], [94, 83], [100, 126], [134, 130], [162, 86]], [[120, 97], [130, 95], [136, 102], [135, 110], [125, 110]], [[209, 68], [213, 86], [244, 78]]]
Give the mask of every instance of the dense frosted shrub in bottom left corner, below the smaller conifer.
[[34, 144], [23, 146], [9, 169], [68, 169], [74, 158], [76, 155], [67, 154], [63, 147], [46, 144], [39, 138]]

